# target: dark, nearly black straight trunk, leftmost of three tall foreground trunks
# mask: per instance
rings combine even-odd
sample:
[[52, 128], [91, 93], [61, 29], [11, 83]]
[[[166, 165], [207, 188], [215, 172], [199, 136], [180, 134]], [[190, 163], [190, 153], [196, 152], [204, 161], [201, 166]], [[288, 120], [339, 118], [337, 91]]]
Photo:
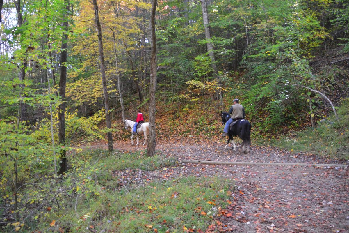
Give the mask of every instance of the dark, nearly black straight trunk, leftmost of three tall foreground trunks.
[[[66, 145], [66, 137], [65, 137], [65, 94], [66, 94], [66, 82], [67, 82], [67, 49], [68, 49], [68, 17], [69, 12], [69, 0], [64, 0], [65, 4], [65, 14], [64, 14], [64, 22], [63, 22], [63, 30], [65, 32], [62, 35], [62, 51], [61, 51], [61, 60], [59, 66], [60, 78], [59, 78], [59, 96], [61, 97], [61, 103], [58, 106], [58, 143], [61, 146]], [[66, 157], [65, 149], [60, 150], [60, 163], [59, 163], [59, 175], [64, 175], [64, 173], [68, 170], [68, 160]]]

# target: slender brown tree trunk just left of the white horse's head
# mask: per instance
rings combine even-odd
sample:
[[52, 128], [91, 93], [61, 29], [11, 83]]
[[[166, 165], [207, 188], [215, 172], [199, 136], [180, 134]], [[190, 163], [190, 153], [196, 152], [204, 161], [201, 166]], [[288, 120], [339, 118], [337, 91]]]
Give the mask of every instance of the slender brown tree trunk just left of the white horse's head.
[[111, 122], [110, 122], [110, 114], [109, 114], [109, 98], [108, 98], [107, 82], [105, 78], [106, 68], [104, 64], [102, 28], [101, 28], [101, 23], [99, 22], [97, 0], [93, 0], [93, 5], [95, 7], [95, 20], [96, 20], [96, 26], [97, 26], [99, 59], [101, 60], [101, 77], [102, 77], [102, 85], [103, 85], [103, 93], [104, 93], [105, 122], [108, 129], [108, 132], [107, 132], [108, 150], [113, 151], [113, 136], [110, 131]]

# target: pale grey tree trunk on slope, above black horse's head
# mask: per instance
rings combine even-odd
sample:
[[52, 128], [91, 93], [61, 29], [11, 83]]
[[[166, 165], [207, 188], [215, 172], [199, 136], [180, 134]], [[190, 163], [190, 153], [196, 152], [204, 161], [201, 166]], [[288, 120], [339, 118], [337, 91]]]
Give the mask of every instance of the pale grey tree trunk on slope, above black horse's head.
[[216, 91], [217, 99], [221, 100], [222, 108], [223, 108], [223, 98], [222, 98], [222, 91], [221, 91], [221, 78], [218, 75], [218, 68], [216, 64], [215, 54], [213, 52], [213, 45], [211, 43], [211, 34], [210, 34], [210, 26], [209, 26], [209, 20], [208, 20], [208, 12], [207, 12], [207, 3], [206, 0], [200, 0], [201, 1], [201, 9], [202, 9], [202, 19], [203, 19], [203, 26], [205, 27], [205, 38], [207, 40], [207, 51], [211, 59], [211, 66], [213, 68], [213, 73], [216, 79], [218, 79], [219, 84], [219, 91]]

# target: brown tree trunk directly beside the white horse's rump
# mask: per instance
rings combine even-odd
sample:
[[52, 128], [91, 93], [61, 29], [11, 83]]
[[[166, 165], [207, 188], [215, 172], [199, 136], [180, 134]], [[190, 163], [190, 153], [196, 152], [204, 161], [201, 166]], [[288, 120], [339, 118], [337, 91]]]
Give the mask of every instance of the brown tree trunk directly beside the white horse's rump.
[[155, 154], [155, 90], [156, 90], [156, 35], [155, 35], [155, 12], [157, 0], [151, 1], [151, 63], [150, 63], [150, 86], [149, 86], [149, 137], [147, 155]]

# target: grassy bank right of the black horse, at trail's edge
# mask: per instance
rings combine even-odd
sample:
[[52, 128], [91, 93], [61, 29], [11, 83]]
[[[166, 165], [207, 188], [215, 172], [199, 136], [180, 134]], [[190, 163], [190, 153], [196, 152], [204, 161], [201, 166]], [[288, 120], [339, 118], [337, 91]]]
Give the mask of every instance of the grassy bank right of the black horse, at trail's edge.
[[316, 128], [282, 136], [270, 142], [277, 147], [295, 152], [309, 152], [334, 159], [349, 159], [349, 99], [338, 108], [339, 121], [335, 117], [318, 121]]

